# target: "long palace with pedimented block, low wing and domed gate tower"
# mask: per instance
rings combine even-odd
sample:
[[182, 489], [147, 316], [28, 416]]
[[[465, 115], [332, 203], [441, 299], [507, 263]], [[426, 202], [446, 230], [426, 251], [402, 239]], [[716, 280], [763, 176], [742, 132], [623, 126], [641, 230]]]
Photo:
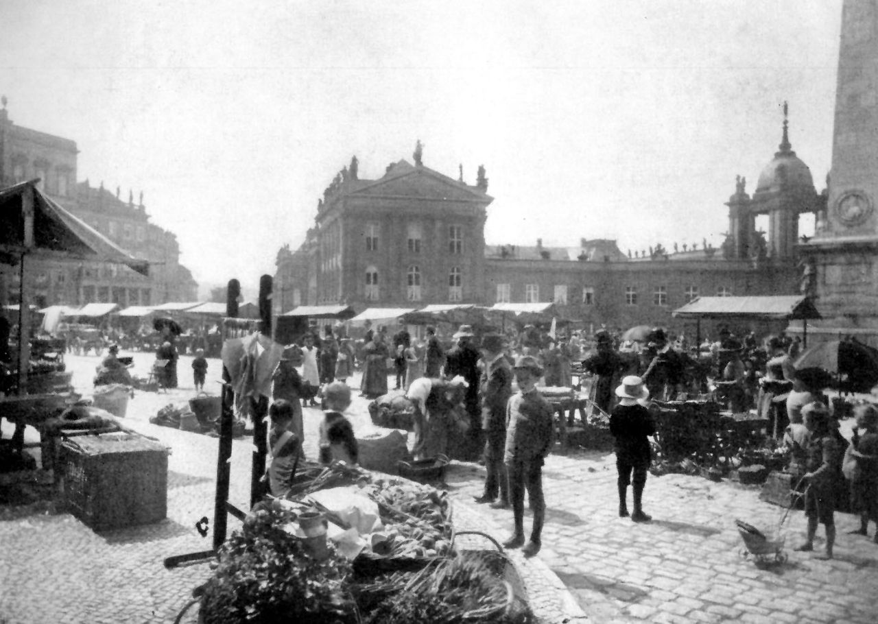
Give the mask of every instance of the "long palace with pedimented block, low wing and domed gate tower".
[[[356, 158], [318, 203], [302, 245], [277, 255], [276, 312], [297, 305], [421, 307], [428, 304], [555, 302], [585, 326], [654, 324], [680, 329], [671, 312], [702, 296], [796, 294], [802, 267], [798, 220], [824, 219], [808, 166], [788, 137], [759, 174], [752, 195], [738, 176], [723, 247], [706, 241], [624, 254], [615, 240], [571, 247], [486, 245], [492, 197], [479, 168], [475, 186], [415, 164], [393, 163], [378, 180], [359, 180]], [[352, 173], [353, 171], [353, 173]], [[768, 215], [768, 231], [757, 229]], [[718, 220], [718, 219], [717, 219]], [[571, 224], [574, 231], [576, 224]], [[743, 328], [742, 328], [743, 329]]]

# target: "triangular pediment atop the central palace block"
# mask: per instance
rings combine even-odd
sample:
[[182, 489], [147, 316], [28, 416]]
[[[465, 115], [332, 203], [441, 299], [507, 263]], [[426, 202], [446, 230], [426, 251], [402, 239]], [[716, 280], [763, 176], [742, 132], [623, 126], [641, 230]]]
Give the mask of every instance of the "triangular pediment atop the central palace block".
[[378, 180], [349, 193], [350, 197], [413, 197], [417, 199], [441, 199], [444, 201], [478, 202], [490, 204], [493, 197], [478, 188], [452, 180], [448, 176], [426, 167], [404, 169], [394, 175], [393, 169]]

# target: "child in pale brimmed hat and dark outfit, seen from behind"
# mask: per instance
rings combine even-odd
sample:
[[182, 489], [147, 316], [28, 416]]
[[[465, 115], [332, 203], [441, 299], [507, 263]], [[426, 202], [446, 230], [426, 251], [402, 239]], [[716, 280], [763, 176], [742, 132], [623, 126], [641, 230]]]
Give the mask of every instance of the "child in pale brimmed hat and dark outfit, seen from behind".
[[[656, 433], [655, 423], [644, 402], [650, 397], [644, 381], [631, 375], [624, 377], [615, 389], [619, 405], [609, 417], [609, 430], [615, 437], [615, 468], [619, 473], [619, 516], [628, 516], [628, 486], [634, 490], [634, 513], [631, 520], [649, 522], [651, 516], [644, 513], [643, 497], [646, 486], [646, 470], [650, 467], [651, 451], [648, 436]], [[631, 475], [634, 478], [631, 478]]]

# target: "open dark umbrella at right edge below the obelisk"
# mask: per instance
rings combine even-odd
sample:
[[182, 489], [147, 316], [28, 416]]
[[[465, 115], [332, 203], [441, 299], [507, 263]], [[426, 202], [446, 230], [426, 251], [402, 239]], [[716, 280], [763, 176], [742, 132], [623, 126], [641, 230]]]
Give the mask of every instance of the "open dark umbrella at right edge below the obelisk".
[[824, 369], [838, 382], [838, 390], [868, 392], [878, 383], [878, 357], [873, 348], [854, 341], [820, 342], [795, 361], [796, 369]]

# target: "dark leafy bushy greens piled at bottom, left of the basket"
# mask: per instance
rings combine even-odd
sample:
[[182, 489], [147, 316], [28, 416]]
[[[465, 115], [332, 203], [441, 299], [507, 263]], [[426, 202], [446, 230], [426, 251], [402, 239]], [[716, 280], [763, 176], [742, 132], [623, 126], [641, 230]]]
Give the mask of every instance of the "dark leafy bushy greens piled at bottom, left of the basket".
[[349, 598], [350, 563], [328, 545], [317, 561], [284, 530], [294, 513], [266, 506], [248, 514], [241, 532], [219, 548], [219, 564], [203, 586], [199, 621], [274, 624], [356, 621]]

